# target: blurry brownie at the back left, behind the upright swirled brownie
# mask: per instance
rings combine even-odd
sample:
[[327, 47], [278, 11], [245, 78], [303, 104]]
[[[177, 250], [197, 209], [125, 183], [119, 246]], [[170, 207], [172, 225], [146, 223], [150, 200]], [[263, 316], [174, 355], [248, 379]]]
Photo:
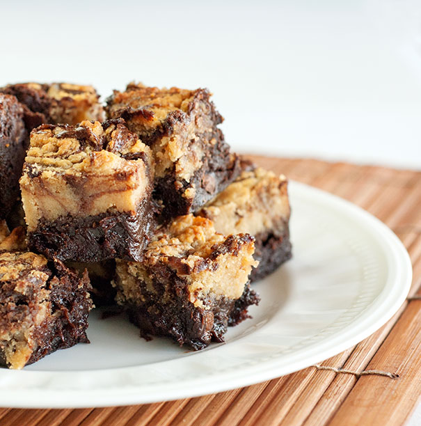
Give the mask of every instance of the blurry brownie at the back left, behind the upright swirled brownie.
[[19, 83], [0, 88], [15, 95], [24, 107], [26, 127], [42, 124], [76, 125], [83, 120], [104, 120], [104, 109], [92, 86], [69, 83]]

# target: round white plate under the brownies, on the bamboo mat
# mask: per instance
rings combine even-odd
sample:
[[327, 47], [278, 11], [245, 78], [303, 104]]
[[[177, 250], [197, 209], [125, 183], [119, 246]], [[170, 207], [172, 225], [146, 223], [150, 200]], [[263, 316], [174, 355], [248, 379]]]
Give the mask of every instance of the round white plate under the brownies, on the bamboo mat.
[[255, 284], [253, 319], [201, 352], [151, 342], [124, 317], [90, 317], [90, 345], [22, 371], [0, 369], [3, 407], [100, 407], [193, 397], [308, 367], [355, 345], [397, 311], [411, 284], [399, 239], [360, 208], [290, 182], [294, 258]]

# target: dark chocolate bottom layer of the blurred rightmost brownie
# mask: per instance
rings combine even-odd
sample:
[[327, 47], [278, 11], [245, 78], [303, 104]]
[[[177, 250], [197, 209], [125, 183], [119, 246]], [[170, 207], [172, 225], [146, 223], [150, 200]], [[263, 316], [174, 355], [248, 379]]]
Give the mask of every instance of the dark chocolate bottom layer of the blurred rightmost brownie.
[[282, 234], [262, 232], [255, 235], [255, 260], [259, 266], [251, 271], [250, 281], [261, 280], [271, 274], [283, 262], [292, 257], [292, 245], [289, 241], [289, 228], [285, 225]]

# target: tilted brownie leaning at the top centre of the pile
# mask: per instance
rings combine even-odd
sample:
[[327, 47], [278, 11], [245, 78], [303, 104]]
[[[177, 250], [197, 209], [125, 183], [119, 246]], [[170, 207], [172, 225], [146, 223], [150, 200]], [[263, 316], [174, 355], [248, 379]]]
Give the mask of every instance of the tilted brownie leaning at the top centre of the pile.
[[107, 100], [109, 118], [122, 117], [156, 162], [154, 199], [162, 218], [189, 214], [224, 189], [239, 174], [218, 125], [207, 89], [159, 89], [129, 84]]

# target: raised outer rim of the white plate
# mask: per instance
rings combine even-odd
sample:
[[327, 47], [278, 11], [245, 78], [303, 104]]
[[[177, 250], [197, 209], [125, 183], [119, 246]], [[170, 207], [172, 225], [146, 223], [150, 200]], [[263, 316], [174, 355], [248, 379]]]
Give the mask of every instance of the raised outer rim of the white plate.
[[[8, 390], [3, 388], [1, 382], [2, 377], [15, 377], [18, 381], [24, 381], [26, 376], [34, 378], [35, 382], [38, 379], [45, 379], [51, 375], [61, 374], [63, 378], [66, 376], [77, 374], [78, 376], [83, 375], [95, 375], [100, 377], [101, 374], [118, 374], [121, 373], [123, 376], [127, 374], [136, 374], [136, 369], [140, 366], [121, 367], [121, 368], [109, 368], [102, 370], [73, 370], [73, 371], [15, 371], [15, 370], [0, 370], [0, 404], [1, 407], [17, 407], [17, 408], [86, 408], [86, 407], [109, 407], [113, 405], [129, 405], [129, 404], [146, 404], [152, 402], [161, 402], [168, 400], [176, 400], [186, 397], [197, 397], [200, 395], [207, 395], [209, 393], [223, 392], [233, 388], [239, 388], [243, 386], [250, 386], [252, 384], [260, 383], [276, 377], [281, 377], [285, 374], [290, 374], [308, 368], [315, 363], [318, 363], [324, 359], [331, 358], [335, 354], [339, 354], [344, 350], [356, 345], [361, 340], [364, 340], [370, 336], [374, 331], [378, 330], [383, 324], [385, 324], [402, 305], [406, 296], [411, 288], [412, 281], [412, 265], [411, 259], [409, 258], [406, 248], [395, 235], [390, 228], [388, 228], [383, 222], [376, 218], [376, 216], [363, 210], [361, 207], [354, 205], [348, 200], [344, 200], [338, 196], [330, 194], [321, 189], [311, 187], [310, 185], [289, 180], [289, 191], [296, 193], [294, 196], [304, 196], [312, 198], [312, 201], [316, 200], [317, 203], [323, 205], [333, 205], [337, 210], [344, 213], [345, 216], [351, 216], [354, 220], [358, 219], [358, 223], [363, 225], [370, 225], [376, 239], [383, 239], [383, 242], [388, 246], [388, 251], [384, 250], [386, 255], [396, 260], [395, 265], [395, 283], [393, 285], [397, 287], [397, 278], [400, 278], [400, 291], [394, 297], [388, 297], [386, 294], [386, 285], [382, 288], [379, 297], [374, 299], [370, 304], [370, 308], [367, 308], [365, 318], [360, 322], [357, 322], [357, 331], [355, 330], [355, 320], [345, 326], [345, 335], [350, 333], [347, 329], [354, 325], [354, 330], [350, 333], [351, 336], [344, 338], [341, 336], [330, 336], [317, 344], [310, 345], [310, 354], [303, 357], [299, 357], [295, 361], [289, 361], [285, 363], [285, 358], [288, 356], [282, 356], [280, 358], [274, 358], [272, 360], [265, 361], [262, 365], [246, 365], [244, 368], [240, 368], [243, 374], [239, 372], [216, 372], [215, 377], [208, 376], [196, 377], [193, 379], [186, 379], [181, 384], [178, 382], [170, 381], [164, 384], [165, 391], [162, 390], [162, 383], [159, 384], [148, 384], [147, 386], [109, 386], [105, 389], [86, 388], [86, 389], [61, 389], [56, 390], [54, 388], [40, 388], [39, 386], [29, 386], [24, 388], [15, 388]], [[310, 194], [310, 195], [309, 195]], [[357, 221], [357, 220], [356, 220]], [[391, 265], [388, 265], [390, 271]], [[395, 288], [393, 287], [393, 288]], [[395, 289], [396, 290], [396, 289]], [[381, 310], [382, 307], [386, 306], [387, 309]], [[370, 315], [369, 315], [370, 314]], [[375, 314], [375, 315], [374, 315]], [[364, 316], [364, 315], [363, 315]], [[374, 319], [372, 317], [375, 317]], [[337, 342], [336, 345], [333, 343]], [[317, 349], [315, 349], [315, 347]], [[307, 347], [307, 351], [309, 347]], [[300, 351], [299, 351], [300, 354]], [[322, 355], [321, 355], [322, 354]], [[200, 355], [198, 352], [197, 355]], [[195, 354], [196, 356], [196, 354]], [[296, 357], [296, 353], [294, 353]], [[182, 358], [186, 359], [186, 358]], [[173, 361], [161, 361], [161, 363], [171, 363]], [[282, 362], [282, 360], [284, 360]], [[159, 363], [157, 363], [159, 364]], [[151, 364], [155, 365], [155, 364]], [[28, 374], [30, 373], [30, 374]], [[46, 381], [48, 384], [48, 380]], [[47, 402], [46, 402], [47, 401]]]

